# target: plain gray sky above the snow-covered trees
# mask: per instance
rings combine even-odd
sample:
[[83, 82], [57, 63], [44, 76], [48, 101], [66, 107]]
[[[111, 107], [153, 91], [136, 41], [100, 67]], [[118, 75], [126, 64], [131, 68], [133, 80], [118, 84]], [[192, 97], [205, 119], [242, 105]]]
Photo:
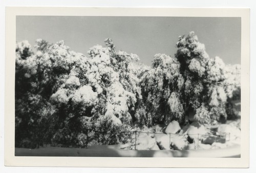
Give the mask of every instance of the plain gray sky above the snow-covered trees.
[[174, 56], [179, 35], [195, 31], [211, 58], [241, 63], [241, 18], [238, 17], [98, 17], [17, 16], [16, 41], [37, 38], [51, 43], [64, 40], [70, 50], [87, 55], [112, 38], [118, 50], [137, 54], [151, 65], [156, 53]]

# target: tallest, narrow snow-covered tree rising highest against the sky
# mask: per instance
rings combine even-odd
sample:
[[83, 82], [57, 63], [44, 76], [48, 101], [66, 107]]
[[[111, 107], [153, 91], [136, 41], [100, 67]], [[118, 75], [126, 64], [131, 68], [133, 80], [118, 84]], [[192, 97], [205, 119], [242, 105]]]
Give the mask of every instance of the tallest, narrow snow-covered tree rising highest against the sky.
[[210, 58], [204, 44], [198, 41], [194, 32], [190, 32], [186, 37], [180, 36], [176, 46], [178, 50], [175, 57], [180, 62], [180, 73], [184, 78], [184, 90], [180, 94], [185, 116], [191, 113], [199, 114], [199, 110], [205, 110], [202, 106], [206, 106], [202, 103], [207, 100], [206, 79]]

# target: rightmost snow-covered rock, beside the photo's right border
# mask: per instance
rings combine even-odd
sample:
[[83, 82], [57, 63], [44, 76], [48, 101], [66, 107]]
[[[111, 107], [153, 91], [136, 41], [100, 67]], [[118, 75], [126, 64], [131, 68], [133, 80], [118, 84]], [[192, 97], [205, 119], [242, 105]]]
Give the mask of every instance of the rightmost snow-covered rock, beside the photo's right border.
[[236, 126], [232, 126], [230, 124], [221, 124], [217, 129], [217, 134], [225, 136], [227, 140], [232, 141], [240, 138], [241, 131]]

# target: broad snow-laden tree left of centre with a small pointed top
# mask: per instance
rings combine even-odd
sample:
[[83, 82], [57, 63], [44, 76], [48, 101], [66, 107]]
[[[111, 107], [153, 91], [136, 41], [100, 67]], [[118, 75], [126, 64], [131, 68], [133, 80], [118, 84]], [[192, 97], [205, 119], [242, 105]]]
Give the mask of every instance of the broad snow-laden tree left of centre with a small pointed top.
[[[76, 126], [82, 126], [81, 129], [86, 134], [79, 134], [80, 137], [89, 138], [92, 132], [96, 133], [94, 136], [103, 136], [113, 129], [121, 131], [132, 122], [132, 113], [135, 112], [135, 104], [140, 97], [138, 79], [131, 66], [132, 60], [137, 60], [138, 57], [116, 51], [111, 39], [106, 39], [105, 44], [105, 48], [94, 46], [88, 51], [89, 58], [84, 57], [82, 61], [76, 62], [65, 84], [52, 95], [53, 100], [59, 99], [56, 100], [57, 103], [68, 100], [63, 106], [64, 110], [72, 107], [66, 111], [66, 115], [71, 115], [71, 120], [67, 122], [77, 122], [79, 119]], [[63, 96], [59, 97], [59, 93]], [[92, 125], [88, 125], [90, 123]], [[102, 133], [102, 124], [108, 126], [109, 131]]]

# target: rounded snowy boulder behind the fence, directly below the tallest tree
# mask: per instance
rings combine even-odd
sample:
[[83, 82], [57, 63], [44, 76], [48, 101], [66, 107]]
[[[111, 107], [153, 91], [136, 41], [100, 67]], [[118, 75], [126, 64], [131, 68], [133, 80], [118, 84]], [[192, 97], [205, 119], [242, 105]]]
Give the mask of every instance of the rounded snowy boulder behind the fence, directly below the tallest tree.
[[187, 135], [192, 140], [201, 140], [205, 134], [207, 134], [206, 128], [198, 122], [191, 123], [187, 128]]

